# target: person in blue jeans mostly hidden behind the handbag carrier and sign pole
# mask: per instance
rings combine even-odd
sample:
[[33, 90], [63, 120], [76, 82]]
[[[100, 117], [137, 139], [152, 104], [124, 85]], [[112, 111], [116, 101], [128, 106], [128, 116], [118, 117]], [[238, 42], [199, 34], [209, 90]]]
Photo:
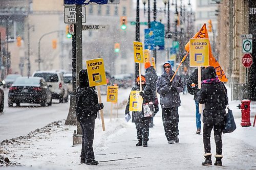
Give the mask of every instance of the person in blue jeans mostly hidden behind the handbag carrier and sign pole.
[[[202, 71], [205, 67], [201, 67], [201, 80], [202, 80]], [[198, 68], [196, 68], [193, 73], [188, 77], [187, 79], [187, 91], [189, 94], [194, 95], [194, 101], [196, 104], [196, 126], [197, 126], [197, 131], [196, 134], [201, 133], [201, 113], [199, 113], [199, 103], [197, 100], [197, 92], [199, 91], [198, 89]]]

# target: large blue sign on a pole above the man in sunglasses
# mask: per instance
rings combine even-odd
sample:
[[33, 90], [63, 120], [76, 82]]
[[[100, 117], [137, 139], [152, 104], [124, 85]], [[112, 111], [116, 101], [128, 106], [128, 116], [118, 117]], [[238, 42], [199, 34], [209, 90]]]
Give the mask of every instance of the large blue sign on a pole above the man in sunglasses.
[[157, 50], [164, 50], [164, 25], [161, 22], [150, 22], [150, 28], [154, 30], [155, 34], [155, 48]]

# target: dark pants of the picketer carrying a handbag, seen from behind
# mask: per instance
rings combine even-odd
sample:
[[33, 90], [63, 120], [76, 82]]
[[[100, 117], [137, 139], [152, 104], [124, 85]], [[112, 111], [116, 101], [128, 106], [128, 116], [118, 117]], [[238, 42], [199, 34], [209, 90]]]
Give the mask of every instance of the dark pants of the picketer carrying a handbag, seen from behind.
[[214, 128], [216, 155], [221, 155], [222, 154], [221, 135], [222, 135], [223, 125], [204, 124], [204, 127], [203, 127], [204, 152], [210, 153], [210, 133], [212, 128]]

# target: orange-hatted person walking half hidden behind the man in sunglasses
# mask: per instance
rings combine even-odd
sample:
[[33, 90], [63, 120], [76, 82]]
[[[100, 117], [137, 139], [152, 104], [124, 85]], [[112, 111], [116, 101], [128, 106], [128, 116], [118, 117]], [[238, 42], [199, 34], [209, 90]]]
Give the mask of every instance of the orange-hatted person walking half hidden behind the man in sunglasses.
[[[154, 116], [156, 113], [159, 111], [158, 108], [158, 99], [157, 99], [157, 91], [156, 91], [156, 85], [157, 85], [157, 74], [155, 68], [151, 65], [150, 62], [145, 62], [145, 69], [146, 69], [146, 84], [147, 86], [145, 87], [144, 93], [145, 94], [151, 94], [152, 101], [154, 101]], [[150, 119], [150, 128], [153, 128], [154, 123], [153, 123], [153, 118], [154, 116], [151, 117]]]

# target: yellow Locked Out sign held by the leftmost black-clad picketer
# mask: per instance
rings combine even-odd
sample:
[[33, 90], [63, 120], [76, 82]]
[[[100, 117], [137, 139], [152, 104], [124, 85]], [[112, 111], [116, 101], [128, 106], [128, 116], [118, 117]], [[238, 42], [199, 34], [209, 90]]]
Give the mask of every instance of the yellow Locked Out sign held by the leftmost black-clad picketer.
[[86, 66], [90, 87], [106, 84], [106, 74], [103, 58], [87, 60]]

